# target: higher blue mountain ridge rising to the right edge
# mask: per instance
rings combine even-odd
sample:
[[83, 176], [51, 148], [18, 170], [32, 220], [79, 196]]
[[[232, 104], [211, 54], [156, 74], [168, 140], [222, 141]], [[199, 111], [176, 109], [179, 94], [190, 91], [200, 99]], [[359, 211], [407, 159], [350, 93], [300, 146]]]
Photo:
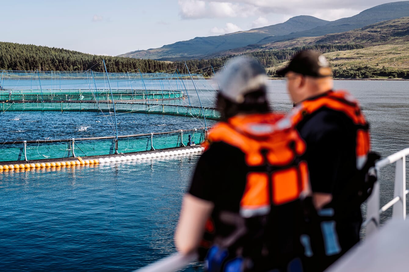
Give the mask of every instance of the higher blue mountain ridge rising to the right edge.
[[329, 33], [345, 32], [352, 29], [371, 25], [376, 22], [396, 19], [409, 16], [409, 1], [392, 2], [387, 4], [381, 4], [379, 6], [366, 9], [359, 14], [342, 18], [329, 22], [326, 25], [315, 27], [306, 31], [298, 31], [290, 33], [289, 35], [270, 36], [257, 42], [258, 44], [266, 44], [269, 42], [279, 40], [289, 40], [299, 37], [316, 37]]

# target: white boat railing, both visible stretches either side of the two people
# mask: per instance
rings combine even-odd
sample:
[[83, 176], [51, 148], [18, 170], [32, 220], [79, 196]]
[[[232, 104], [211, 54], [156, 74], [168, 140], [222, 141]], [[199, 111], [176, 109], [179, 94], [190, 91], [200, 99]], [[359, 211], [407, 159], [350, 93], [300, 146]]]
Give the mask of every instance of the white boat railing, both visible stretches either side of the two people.
[[[395, 191], [393, 199], [379, 208], [379, 182], [374, 185], [371, 196], [368, 198], [366, 208], [366, 221], [362, 227], [366, 227], [366, 235], [371, 235], [378, 230], [379, 215], [393, 206], [393, 218], [406, 218], [406, 156], [409, 155], [409, 148], [403, 149], [375, 164], [375, 170], [380, 176], [380, 169], [391, 163], [396, 163], [395, 170]], [[182, 255], [179, 253], [172, 254], [155, 263], [137, 269], [134, 272], [173, 272], [184, 268], [188, 263], [196, 261], [197, 254]]]

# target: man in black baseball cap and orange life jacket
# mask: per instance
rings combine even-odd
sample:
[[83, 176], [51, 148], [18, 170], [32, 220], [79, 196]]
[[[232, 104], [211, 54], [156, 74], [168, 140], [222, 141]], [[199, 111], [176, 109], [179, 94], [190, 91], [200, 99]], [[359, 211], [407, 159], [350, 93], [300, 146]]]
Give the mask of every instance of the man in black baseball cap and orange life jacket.
[[308, 270], [323, 271], [360, 241], [360, 204], [375, 176], [366, 173], [377, 154], [370, 153], [369, 125], [359, 103], [347, 91], [333, 91], [325, 56], [300, 51], [279, 71], [285, 76], [294, 109], [288, 116], [306, 141], [312, 188], [308, 210]]

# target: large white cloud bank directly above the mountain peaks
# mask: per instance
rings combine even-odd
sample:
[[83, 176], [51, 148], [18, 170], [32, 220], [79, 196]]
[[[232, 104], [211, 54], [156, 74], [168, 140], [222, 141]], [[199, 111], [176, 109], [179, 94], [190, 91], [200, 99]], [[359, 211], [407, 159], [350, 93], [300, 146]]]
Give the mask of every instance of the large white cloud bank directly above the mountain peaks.
[[[311, 15], [325, 20], [353, 16], [390, 0], [178, 0], [183, 19], [266, 17], [269, 14]], [[345, 8], [348, 7], [348, 8]], [[256, 23], [255, 23], [256, 24]]]

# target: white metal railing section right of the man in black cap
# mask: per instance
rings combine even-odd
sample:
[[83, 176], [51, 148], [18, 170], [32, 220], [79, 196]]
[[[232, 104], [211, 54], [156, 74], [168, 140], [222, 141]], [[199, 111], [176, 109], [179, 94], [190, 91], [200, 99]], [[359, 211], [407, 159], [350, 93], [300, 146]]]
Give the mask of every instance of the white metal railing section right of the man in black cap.
[[395, 169], [395, 190], [393, 199], [379, 208], [379, 182], [376, 182], [371, 196], [368, 198], [366, 207], [366, 220], [362, 223], [366, 227], [366, 235], [372, 235], [379, 228], [379, 215], [393, 206], [392, 217], [406, 219], [406, 156], [409, 155], [409, 148], [405, 148], [375, 164], [375, 169], [380, 176], [380, 169], [391, 163], [396, 163]]

